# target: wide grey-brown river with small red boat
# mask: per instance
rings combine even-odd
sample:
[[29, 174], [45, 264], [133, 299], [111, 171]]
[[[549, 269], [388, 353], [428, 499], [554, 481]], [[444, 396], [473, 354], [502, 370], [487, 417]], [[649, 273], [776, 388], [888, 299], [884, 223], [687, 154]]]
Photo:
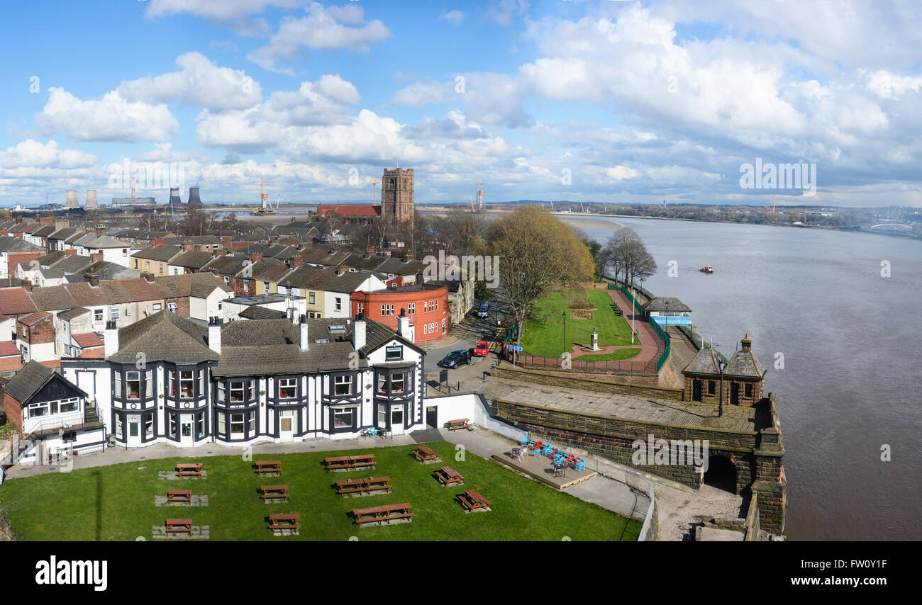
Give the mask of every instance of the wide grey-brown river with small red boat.
[[[922, 241], [614, 220], [656, 259], [646, 289], [691, 307], [727, 357], [753, 339], [781, 414], [788, 539], [922, 539]], [[584, 228], [603, 244], [613, 230]]]

